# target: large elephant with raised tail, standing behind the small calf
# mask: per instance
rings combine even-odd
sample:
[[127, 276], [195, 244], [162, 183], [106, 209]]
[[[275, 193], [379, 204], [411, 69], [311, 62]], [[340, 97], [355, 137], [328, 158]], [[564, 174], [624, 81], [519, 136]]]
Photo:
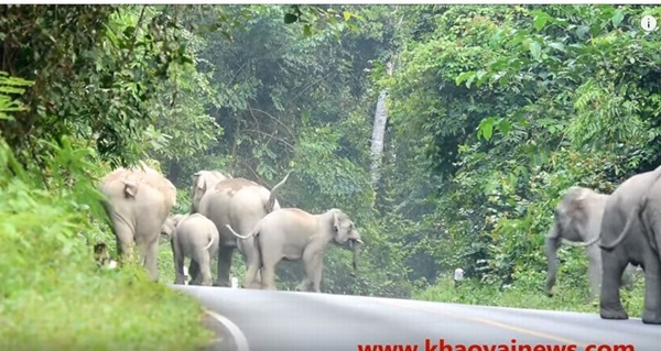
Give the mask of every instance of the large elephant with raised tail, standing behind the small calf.
[[[253, 239], [238, 240], [226, 226], [230, 224], [240, 232], [248, 232], [264, 216], [280, 209], [275, 194], [291, 173], [290, 171], [271, 191], [252, 180], [234, 178], [219, 172], [201, 171], [195, 174], [191, 212], [198, 212], [210, 219], [220, 234], [215, 286], [230, 286], [229, 270], [235, 249], [238, 248], [246, 256], [248, 265], [254, 265], [256, 260], [259, 260]], [[197, 193], [204, 194], [197, 196], [199, 201], [196, 204]], [[245, 285], [245, 287], [250, 286]]]

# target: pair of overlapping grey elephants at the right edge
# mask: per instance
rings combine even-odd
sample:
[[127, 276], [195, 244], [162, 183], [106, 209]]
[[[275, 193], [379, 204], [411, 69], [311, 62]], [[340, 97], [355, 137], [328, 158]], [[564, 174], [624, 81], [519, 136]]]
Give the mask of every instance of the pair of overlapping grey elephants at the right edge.
[[[561, 242], [585, 246], [590, 297], [600, 287], [603, 319], [628, 319], [620, 287], [631, 286], [635, 266], [644, 274], [642, 322], [661, 325], [661, 166], [637, 174], [610, 195], [571, 187], [555, 208], [545, 240], [546, 294], [553, 296]], [[598, 245], [597, 245], [597, 242]]]

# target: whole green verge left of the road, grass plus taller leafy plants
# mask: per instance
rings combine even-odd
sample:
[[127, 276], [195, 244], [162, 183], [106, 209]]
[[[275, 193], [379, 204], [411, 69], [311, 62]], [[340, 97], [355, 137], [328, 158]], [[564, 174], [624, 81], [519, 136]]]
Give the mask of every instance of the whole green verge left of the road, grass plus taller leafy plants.
[[0, 350], [178, 351], [212, 339], [193, 297], [142, 267], [96, 267], [85, 233], [98, 229], [76, 198], [94, 204], [90, 186], [45, 190], [39, 178], [0, 144]]

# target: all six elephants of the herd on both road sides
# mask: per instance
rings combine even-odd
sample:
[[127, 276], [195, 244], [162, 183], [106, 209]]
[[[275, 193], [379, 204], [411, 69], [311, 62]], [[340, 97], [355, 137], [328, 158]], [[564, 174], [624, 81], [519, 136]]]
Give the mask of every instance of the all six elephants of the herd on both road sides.
[[[247, 262], [243, 287], [275, 289], [280, 261], [302, 260], [305, 278], [299, 289], [318, 293], [327, 244], [351, 248], [356, 270], [362, 240], [339, 209], [313, 215], [281, 208], [275, 194], [290, 174], [269, 190], [246, 178], [199, 171], [193, 175], [191, 210], [180, 215], [171, 213], [176, 202], [174, 185], [143, 163], [111, 172], [101, 179], [100, 190], [120, 257], [132, 255], [137, 246], [141, 264], [154, 281], [159, 279], [159, 238], [164, 233], [172, 244], [175, 284], [184, 283], [184, 257], [191, 257], [189, 284], [230, 286], [232, 254], [238, 249]], [[620, 287], [631, 286], [635, 266], [640, 266], [644, 274], [642, 321], [661, 325], [660, 176], [661, 166], [635, 175], [610, 195], [584, 187], [567, 190], [545, 240], [549, 296], [553, 295], [561, 243], [585, 246], [590, 296], [600, 288], [600, 317], [628, 318]], [[213, 282], [215, 257], [218, 270]]]

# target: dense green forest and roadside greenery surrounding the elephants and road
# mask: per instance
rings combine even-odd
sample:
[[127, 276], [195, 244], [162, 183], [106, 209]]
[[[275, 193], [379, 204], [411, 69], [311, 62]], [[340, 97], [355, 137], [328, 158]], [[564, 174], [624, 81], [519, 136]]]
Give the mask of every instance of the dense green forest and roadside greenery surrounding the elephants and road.
[[[98, 179], [143, 161], [191, 208], [219, 169], [282, 207], [342, 208], [322, 289], [578, 310], [587, 257], [544, 238], [572, 186], [610, 194], [661, 165], [654, 6], [1, 6], [0, 343], [184, 350], [210, 338], [161, 243], [161, 283], [98, 271], [115, 238]], [[246, 267], [235, 254], [234, 276]], [[456, 268], [464, 283], [453, 285]], [[302, 267], [278, 271], [293, 289]], [[642, 278], [624, 290], [640, 314]], [[30, 347], [32, 345], [32, 348]], [[162, 345], [162, 347], [159, 347]]]

